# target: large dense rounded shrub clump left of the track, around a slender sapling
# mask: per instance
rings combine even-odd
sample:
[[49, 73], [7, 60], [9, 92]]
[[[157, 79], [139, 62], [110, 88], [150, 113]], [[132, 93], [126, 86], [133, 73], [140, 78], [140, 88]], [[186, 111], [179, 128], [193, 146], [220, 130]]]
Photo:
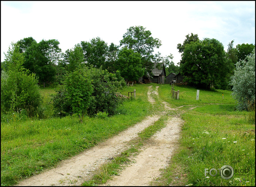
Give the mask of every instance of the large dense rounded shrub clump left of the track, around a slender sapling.
[[[72, 102], [79, 103], [79, 101], [85, 102], [86, 107], [84, 105], [82, 108], [90, 116], [97, 113], [114, 115], [117, 112], [116, 109], [122, 100], [116, 96], [116, 93], [119, 88], [125, 86], [124, 78], [121, 77], [120, 72], [117, 71], [115, 74], [102, 68], [84, 67], [76, 69], [72, 74], [76, 74], [77, 79], [71, 78], [71, 74], [69, 74], [65, 79], [64, 86], [57, 94], [52, 95], [55, 116], [76, 113], [77, 111], [72, 107]], [[87, 78], [84, 79], [84, 77]], [[92, 92], [87, 90], [89, 86], [87, 83], [92, 86]], [[87, 87], [83, 87], [83, 85], [87, 85]], [[86, 93], [88, 95], [85, 97], [84, 94]]]

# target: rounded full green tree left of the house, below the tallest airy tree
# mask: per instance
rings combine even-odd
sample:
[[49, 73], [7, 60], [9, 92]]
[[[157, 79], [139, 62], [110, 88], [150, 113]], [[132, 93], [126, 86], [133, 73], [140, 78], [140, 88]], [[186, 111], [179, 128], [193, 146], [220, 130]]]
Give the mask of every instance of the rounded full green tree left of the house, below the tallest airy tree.
[[115, 67], [120, 71], [121, 76], [128, 80], [137, 81], [145, 71], [140, 54], [127, 47], [120, 50]]

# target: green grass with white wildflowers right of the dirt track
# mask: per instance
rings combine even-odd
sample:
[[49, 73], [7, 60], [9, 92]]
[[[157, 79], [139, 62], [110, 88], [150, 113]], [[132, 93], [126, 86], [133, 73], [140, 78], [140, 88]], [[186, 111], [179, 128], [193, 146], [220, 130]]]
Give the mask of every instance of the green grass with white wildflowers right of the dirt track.
[[[235, 101], [227, 90], [200, 90], [199, 101], [194, 88], [175, 87], [184, 97], [180, 100], [170, 98], [169, 90], [170, 85], [159, 87], [159, 96], [175, 107], [184, 106], [181, 116], [185, 123], [180, 148], [154, 185], [255, 186], [255, 123], [247, 120], [251, 112], [236, 111]], [[196, 108], [189, 110], [192, 107]], [[204, 168], [218, 171], [224, 165], [249, 172], [235, 172], [229, 180], [219, 173], [215, 177], [204, 175]], [[182, 179], [177, 180], [176, 176]]]

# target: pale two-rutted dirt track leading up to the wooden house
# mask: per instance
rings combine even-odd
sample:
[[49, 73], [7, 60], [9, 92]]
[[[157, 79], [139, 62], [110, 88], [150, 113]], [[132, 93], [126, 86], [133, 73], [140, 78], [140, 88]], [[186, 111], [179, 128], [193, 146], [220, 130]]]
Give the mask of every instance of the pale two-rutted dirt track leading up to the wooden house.
[[[155, 104], [154, 97], [158, 97], [158, 87], [154, 90], [152, 86], [149, 86], [148, 100], [153, 105]], [[168, 106], [168, 103], [161, 103], [166, 111], [174, 110]], [[61, 161], [56, 168], [27, 178], [17, 186], [81, 186], [84, 181], [91, 178], [93, 171], [97, 170], [102, 163], [129, 149], [127, 142], [137, 137], [138, 133], [154, 124], [164, 114], [166, 112], [147, 116], [140, 123], [102, 144], [71, 159]], [[135, 162], [121, 171], [120, 176], [115, 176], [113, 180], [102, 186], [149, 186], [150, 181], [160, 176], [159, 169], [168, 165], [173, 151], [177, 149], [182, 123], [179, 116], [169, 116], [166, 127], [150, 138], [140, 154], [134, 157]]]

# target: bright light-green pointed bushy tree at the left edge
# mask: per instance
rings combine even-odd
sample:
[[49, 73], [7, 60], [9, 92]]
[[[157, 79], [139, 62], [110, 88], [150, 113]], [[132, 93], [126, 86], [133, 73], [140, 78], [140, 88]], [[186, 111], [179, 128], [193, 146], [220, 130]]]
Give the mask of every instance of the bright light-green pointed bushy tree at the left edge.
[[19, 46], [11, 43], [5, 53], [6, 66], [1, 72], [1, 110], [17, 111], [25, 109], [28, 116], [34, 116], [42, 104], [38, 79], [35, 74], [29, 74], [22, 65], [24, 56], [19, 52]]

